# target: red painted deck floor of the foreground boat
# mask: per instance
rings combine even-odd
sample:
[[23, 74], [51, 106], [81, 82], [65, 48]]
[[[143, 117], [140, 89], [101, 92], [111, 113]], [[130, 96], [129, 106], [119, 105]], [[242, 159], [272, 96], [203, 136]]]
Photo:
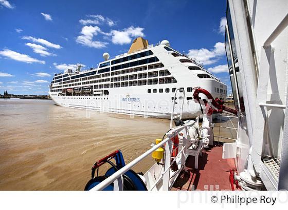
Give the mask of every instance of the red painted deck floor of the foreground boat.
[[[218, 145], [217, 145], [218, 144]], [[194, 157], [186, 161], [188, 173], [184, 170], [179, 174], [172, 190], [231, 190], [229, 170], [236, 170], [234, 159], [222, 159], [222, 143], [215, 143], [203, 150], [199, 157], [198, 169], [194, 169]]]

